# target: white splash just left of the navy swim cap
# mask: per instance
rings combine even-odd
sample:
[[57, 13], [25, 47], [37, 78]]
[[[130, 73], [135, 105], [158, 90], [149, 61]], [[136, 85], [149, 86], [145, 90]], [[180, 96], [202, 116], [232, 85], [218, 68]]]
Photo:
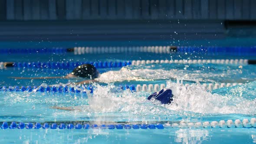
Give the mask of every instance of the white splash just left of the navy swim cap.
[[147, 105], [151, 105], [145, 97], [138, 93], [131, 93], [130, 90], [119, 91], [114, 85], [102, 87], [97, 85], [93, 95], [89, 95], [89, 107], [95, 113], [106, 112], [132, 112], [142, 114]]

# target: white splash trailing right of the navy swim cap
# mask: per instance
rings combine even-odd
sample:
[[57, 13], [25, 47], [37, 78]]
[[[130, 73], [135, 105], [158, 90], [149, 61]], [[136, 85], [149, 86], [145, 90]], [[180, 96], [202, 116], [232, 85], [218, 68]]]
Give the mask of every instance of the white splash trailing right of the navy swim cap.
[[174, 101], [166, 108], [174, 111], [192, 111], [202, 114], [255, 114], [256, 99], [223, 96], [204, 91], [202, 85], [183, 85], [167, 82], [174, 91]]

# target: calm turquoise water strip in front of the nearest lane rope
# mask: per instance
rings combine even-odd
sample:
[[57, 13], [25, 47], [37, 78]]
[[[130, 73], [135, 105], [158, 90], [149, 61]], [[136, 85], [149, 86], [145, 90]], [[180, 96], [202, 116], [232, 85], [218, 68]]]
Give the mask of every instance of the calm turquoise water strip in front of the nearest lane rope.
[[252, 144], [256, 141], [255, 129], [168, 129], [168, 130], [6, 130], [1, 132], [1, 143], [25, 144]]

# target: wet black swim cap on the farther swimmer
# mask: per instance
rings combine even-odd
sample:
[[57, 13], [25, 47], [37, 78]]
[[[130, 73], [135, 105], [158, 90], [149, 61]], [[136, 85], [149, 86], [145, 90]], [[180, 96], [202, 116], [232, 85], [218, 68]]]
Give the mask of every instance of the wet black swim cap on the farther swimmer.
[[98, 77], [97, 69], [94, 65], [91, 64], [79, 65], [78, 67], [73, 69], [71, 74], [86, 79], [95, 79]]

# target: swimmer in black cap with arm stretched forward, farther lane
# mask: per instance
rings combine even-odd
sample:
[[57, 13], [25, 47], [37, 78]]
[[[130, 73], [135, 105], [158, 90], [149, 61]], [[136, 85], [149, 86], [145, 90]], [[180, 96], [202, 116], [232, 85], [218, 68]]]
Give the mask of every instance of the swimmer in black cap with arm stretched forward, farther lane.
[[55, 76], [55, 77], [10, 77], [12, 79], [74, 79], [74, 78], [82, 78], [86, 79], [82, 82], [78, 82], [76, 84], [85, 84], [89, 82], [96, 82], [95, 78], [98, 78], [100, 73], [95, 68], [94, 65], [91, 64], [83, 64], [79, 65], [71, 73], [66, 76]]

